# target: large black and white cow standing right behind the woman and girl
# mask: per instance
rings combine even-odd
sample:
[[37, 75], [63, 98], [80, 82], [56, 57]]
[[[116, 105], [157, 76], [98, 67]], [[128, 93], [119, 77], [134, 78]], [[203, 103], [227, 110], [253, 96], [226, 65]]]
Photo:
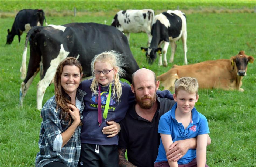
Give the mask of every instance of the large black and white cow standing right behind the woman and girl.
[[21, 83], [20, 104], [36, 74], [40, 71], [37, 84], [37, 109], [42, 108], [46, 88], [53, 80], [55, 70], [64, 58], [75, 57], [83, 67], [84, 77], [92, 75], [91, 61], [104, 51], [119, 51], [123, 56], [124, 79], [132, 82], [132, 74], [139, 69], [133, 58], [126, 36], [113, 26], [97, 23], [70, 23], [63, 26], [49, 25], [33, 27], [27, 34], [23, 52], [22, 78], [26, 72], [27, 42], [30, 41], [30, 59], [27, 76]]

